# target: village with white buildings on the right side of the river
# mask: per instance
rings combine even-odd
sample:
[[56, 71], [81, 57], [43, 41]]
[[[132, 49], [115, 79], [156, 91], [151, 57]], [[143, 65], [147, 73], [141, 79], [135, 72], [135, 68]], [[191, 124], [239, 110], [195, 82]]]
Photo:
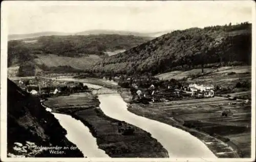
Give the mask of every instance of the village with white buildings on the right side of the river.
[[160, 80], [155, 77], [128, 77], [119, 79], [118, 85], [130, 88], [134, 102], [168, 102], [172, 100], [210, 98], [221, 87], [213, 85], [197, 85], [179, 82], [178, 80]]

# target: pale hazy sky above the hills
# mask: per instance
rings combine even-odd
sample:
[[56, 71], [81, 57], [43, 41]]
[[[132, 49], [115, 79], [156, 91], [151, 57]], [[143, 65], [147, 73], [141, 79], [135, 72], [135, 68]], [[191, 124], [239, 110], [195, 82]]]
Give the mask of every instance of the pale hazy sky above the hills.
[[141, 33], [252, 21], [252, 1], [5, 1], [8, 34], [117, 30]]

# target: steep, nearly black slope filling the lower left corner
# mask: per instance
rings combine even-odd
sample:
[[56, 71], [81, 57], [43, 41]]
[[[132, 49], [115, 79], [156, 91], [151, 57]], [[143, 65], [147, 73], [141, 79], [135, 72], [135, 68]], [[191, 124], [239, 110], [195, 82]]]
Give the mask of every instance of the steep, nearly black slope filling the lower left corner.
[[[41, 106], [39, 99], [24, 92], [8, 79], [7, 85], [7, 153], [9, 157], [83, 157], [80, 150], [63, 150], [65, 154], [51, 154], [34, 146], [76, 147], [65, 137], [54, 115]], [[25, 150], [25, 151], [24, 151]]]

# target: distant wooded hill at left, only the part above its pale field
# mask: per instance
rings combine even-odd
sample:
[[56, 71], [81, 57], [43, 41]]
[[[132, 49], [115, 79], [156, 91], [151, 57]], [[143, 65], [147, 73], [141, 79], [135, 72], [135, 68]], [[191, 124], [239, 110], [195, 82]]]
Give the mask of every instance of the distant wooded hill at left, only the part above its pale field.
[[152, 38], [133, 35], [42, 36], [8, 41], [8, 67], [31, 61], [38, 55], [62, 57], [108, 56], [105, 51], [129, 49]]

